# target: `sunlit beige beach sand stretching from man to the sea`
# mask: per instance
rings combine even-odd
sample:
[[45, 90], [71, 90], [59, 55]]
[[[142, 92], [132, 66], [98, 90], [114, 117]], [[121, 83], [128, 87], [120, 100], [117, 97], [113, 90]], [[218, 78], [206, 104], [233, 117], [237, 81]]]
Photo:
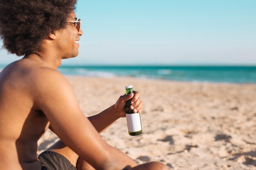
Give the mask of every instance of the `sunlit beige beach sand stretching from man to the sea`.
[[[143, 134], [129, 136], [125, 118], [101, 134], [137, 163], [161, 161], [171, 170], [256, 170], [256, 84], [67, 79], [86, 116], [115, 104], [126, 85], [139, 91], [145, 106]], [[38, 142], [38, 153], [57, 140], [48, 130]]]

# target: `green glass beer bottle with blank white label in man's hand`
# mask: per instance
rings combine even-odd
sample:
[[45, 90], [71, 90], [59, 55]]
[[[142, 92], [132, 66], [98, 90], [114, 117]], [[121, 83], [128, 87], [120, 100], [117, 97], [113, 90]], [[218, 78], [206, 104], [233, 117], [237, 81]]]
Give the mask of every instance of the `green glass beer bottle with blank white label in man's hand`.
[[[126, 95], [132, 93], [132, 85], [126, 86], [125, 88], [126, 88]], [[134, 113], [133, 110], [130, 108], [131, 100], [132, 99], [129, 99], [126, 102], [126, 106], [125, 106], [126, 122], [127, 122], [129, 135], [137, 136], [137, 135], [141, 135], [142, 133], [141, 119], [140, 119], [139, 112]]]

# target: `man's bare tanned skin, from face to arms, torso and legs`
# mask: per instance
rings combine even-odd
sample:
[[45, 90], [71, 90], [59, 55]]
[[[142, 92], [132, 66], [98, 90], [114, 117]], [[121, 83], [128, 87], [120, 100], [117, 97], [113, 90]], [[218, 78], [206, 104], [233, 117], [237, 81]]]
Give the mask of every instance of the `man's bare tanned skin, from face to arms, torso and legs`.
[[[76, 20], [74, 12], [68, 20]], [[50, 128], [61, 141], [47, 150], [62, 154], [78, 170], [167, 170], [157, 162], [137, 166], [99, 136], [125, 117], [128, 99], [133, 97], [132, 106], [143, 111], [139, 93], [120, 96], [116, 104], [98, 115], [87, 118], [82, 113], [69, 82], [56, 71], [62, 59], [78, 55], [76, 41], [82, 34], [68, 23], [65, 29], [49, 34], [40, 50], [0, 73], [0, 169], [40, 170], [37, 142]]]

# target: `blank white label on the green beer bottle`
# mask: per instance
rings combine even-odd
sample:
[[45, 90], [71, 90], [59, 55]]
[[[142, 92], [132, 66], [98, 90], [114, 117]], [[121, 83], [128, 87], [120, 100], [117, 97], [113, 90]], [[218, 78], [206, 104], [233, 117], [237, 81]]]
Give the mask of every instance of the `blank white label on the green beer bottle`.
[[126, 114], [126, 122], [129, 132], [142, 130], [139, 113]]

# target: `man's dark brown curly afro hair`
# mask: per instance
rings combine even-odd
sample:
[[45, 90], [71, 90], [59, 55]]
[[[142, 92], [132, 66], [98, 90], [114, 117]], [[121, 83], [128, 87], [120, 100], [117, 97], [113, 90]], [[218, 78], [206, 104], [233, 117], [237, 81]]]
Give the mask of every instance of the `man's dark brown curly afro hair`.
[[0, 0], [3, 48], [18, 56], [39, 49], [51, 33], [65, 28], [76, 0]]

